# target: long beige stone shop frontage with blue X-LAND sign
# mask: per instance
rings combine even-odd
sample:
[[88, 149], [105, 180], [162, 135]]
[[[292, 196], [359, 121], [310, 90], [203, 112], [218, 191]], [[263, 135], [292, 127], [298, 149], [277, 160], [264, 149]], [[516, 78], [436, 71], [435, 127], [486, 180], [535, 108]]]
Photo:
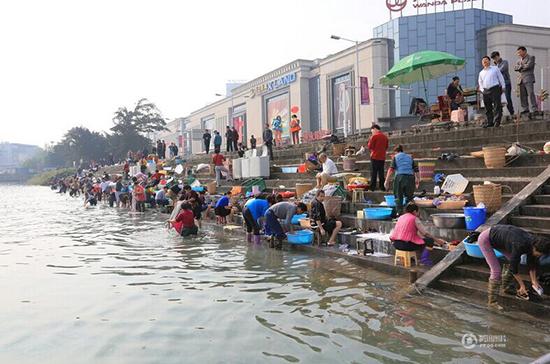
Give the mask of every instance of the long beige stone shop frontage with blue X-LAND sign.
[[271, 124], [277, 116], [288, 141], [293, 114], [300, 119], [303, 133], [343, 133], [346, 126], [348, 133], [368, 129], [375, 117], [391, 116], [393, 98], [383, 89], [364, 87], [361, 94], [357, 92], [356, 54], [363, 82], [373, 85], [392, 63], [391, 43], [371, 39], [360, 43], [357, 52], [354, 46], [323, 59], [299, 59], [236, 87], [229, 96], [186, 117], [192, 153], [204, 150], [201, 137], [205, 129], [220, 131], [225, 150], [227, 125], [235, 126], [239, 142], [248, 144], [254, 135], [260, 144], [266, 123]]

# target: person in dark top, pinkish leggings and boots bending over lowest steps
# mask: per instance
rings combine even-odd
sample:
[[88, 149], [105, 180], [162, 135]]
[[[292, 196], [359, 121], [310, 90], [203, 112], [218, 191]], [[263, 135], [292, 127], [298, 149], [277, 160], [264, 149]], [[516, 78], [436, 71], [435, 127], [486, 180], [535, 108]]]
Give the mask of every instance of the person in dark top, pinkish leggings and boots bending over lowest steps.
[[[497, 301], [499, 290], [502, 286], [501, 293], [514, 294], [514, 278], [519, 285], [516, 296], [525, 300], [529, 299], [525, 283], [519, 275], [519, 264], [523, 254], [527, 255], [531, 285], [537, 293], [542, 294], [542, 288], [537, 280], [536, 267], [539, 257], [550, 254], [550, 240], [531, 235], [516, 226], [495, 225], [479, 235], [477, 244], [491, 269], [489, 287], [487, 289], [487, 305], [489, 308], [496, 310], [503, 309]], [[500, 263], [493, 249], [500, 251], [510, 262], [509, 267], [505, 266], [502, 281]]]

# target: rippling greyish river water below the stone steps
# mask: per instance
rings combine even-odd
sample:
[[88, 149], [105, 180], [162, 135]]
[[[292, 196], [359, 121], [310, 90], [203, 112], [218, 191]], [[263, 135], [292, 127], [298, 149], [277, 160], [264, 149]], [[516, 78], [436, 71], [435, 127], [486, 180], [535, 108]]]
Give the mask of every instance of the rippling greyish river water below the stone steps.
[[[529, 362], [543, 325], [344, 260], [250, 246], [166, 215], [1, 186], [0, 363]], [[465, 334], [492, 345], [466, 348]], [[491, 347], [492, 346], [492, 347]]]

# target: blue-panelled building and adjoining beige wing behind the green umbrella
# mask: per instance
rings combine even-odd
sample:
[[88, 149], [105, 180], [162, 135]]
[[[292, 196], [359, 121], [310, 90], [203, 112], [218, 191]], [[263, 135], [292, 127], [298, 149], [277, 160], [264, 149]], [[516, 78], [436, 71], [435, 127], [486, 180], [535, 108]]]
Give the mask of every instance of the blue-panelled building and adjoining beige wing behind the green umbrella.
[[[484, 9], [403, 16], [374, 28], [373, 35], [393, 40], [395, 61], [422, 50], [444, 51], [464, 58], [466, 65], [456, 75], [460, 77], [463, 87], [468, 88], [477, 87], [481, 58], [493, 51], [499, 51], [509, 61], [512, 79], [516, 76], [513, 65], [517, 61], [518, 46], [527, 47], [528, 52], [536, 56], [535, 74], [539, 82], [542, 82], [539, 79], [541, 67], [548, 67], [549, 28], [516, 25], [511, 15]], [[449, 74], [427, 82], [428, 102], [433, 103], [437, 96], [445, 95], [453, 76]], [[544, 86], [548, 89], [548, 81]], [[421, 83], [406, 85], [405, 88], [411, 91], [395, 93], [396, 116], [407, 115], [412, 97], [424, 95]], [[517, 96], [514, 104], [519, 105]]]

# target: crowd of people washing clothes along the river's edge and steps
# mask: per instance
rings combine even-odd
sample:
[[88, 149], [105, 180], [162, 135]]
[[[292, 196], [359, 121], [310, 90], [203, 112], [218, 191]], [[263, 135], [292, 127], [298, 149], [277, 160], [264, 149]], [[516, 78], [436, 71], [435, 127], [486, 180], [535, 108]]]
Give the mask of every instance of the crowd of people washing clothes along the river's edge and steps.
[[[403, 146], [397, 145], [393, 149], [390, 168], [386, 172], [388, 138], [377, 125], [372, 126], [371, 132], [368, 143], [356, 154], [370, 155], [370, 189], [385, 191], [391, 188], [396, 196], [397, 219], [389, 238], [396, 250], [416, 252], [422, 264], [431, 265], [431, 247], [444, 246], [446, 242], [430, 233], [419, 217], [419, 208], [413, 199], [413, 193], [420, 183], [417, 163]], [[332, 140], [337, 141], [337, 138]], [[338, 216], [329, 216], [324, 204], [326, 187], [336, 181], [335, 175], [338, 174], [336, 163], [325, 153], [326, 149], [327, 147], [314, 153], [314, 158], [310, 161], [316, 171], [317, 185], [314, 198], [307, 201], [307, 204], [302, 200], [285, 200], [282, 194], [209, 194], [201, 186], [192, 186], [187, 172], [183, 174], [186, 177], [182, 181], [169, 170], [148, 169], [150, 161], [146, 159], [138, 161], [140, 172], [133, 176], [130, 176], [129, 165], [134, 163], [129, 158], [122, 175], [103, 174], [95, 177], [91, 172], [81, 171], [75, 176], [55, 180], [52, 185], [59, 189], [59, 193], [83, 196], [85, 206], [95, 206], [101, 202], [132, 212], [144, 212], [147, 208], [166, 210], [170, 213], [168, 224], [182, 236], [196, 235], [202, 227], [203, 219], [215, 218], [217, 224], [223, 225], [235, 222], [236, 215], [242, 215], [248, 242], [259, 243], [265, 236], [268, 237], [270, 247], [277, 249], [282, 248], [287, 234], [298, 228], [292, 223], [293, 217], [307, 214], [310, 228], [315, 229], [328, 246], [333, 246], [338, 243], [338, 233], [343, 224]], [[218, 182], [226, 168], [223, 166], [224, 159], [221, 152], [215, 150], [213, 163]], [[159, 162], [158, 159], [155, 161]], [[403, 201], [410, 202], [403, 204]], [[536, 268], [541, 262], [548, 262], [548, 239], [509, 225], [493, 226], [475, 236], [475, 239], [491, 270], [489, 307], [501, 309], [497, 302], [499, 291], [516, 294], [522, 299], [529, 298], [528, 289], [518, 274], [522, 255], [527, 256], [532, 289], [542, 292]], [[508, 260], [503, 273], [493, 249], [499, 250]], [[517, 289], [513, 287], [514, 283], [518, 285]]]

